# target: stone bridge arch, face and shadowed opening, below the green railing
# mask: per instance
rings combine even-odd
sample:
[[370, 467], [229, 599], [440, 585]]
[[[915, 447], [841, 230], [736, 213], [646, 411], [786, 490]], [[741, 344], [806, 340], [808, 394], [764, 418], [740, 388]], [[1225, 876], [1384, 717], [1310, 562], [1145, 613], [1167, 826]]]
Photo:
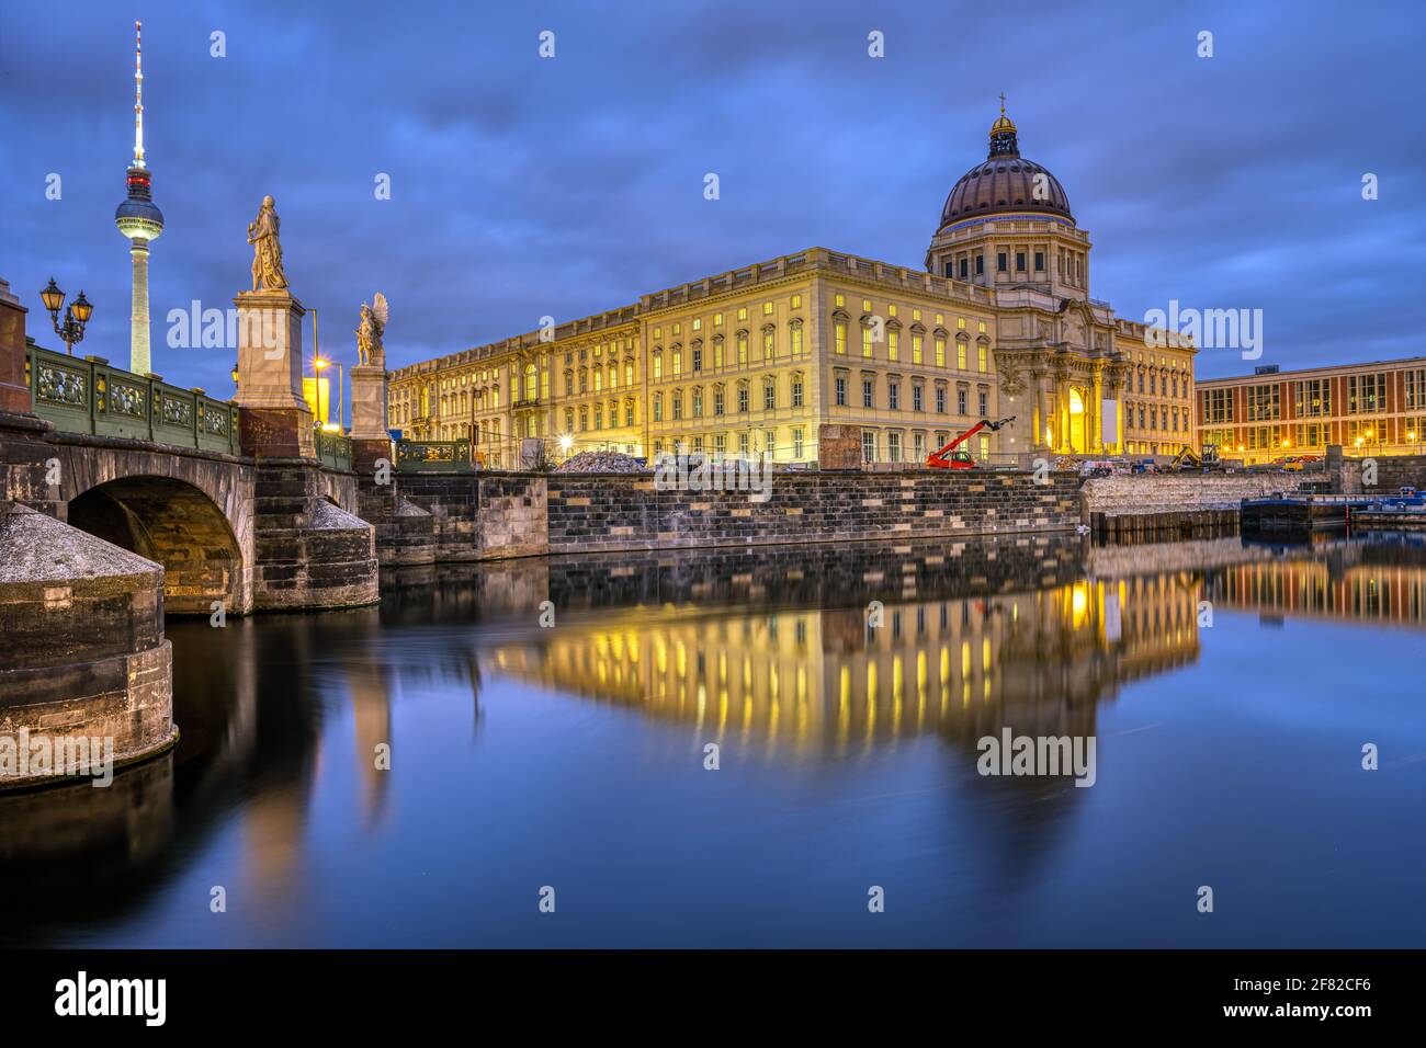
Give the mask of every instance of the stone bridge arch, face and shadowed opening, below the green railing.
[[254, 471], [225, 456], [56, 442], [68, 523], [164, 566], [164, 609], [252, 610]]

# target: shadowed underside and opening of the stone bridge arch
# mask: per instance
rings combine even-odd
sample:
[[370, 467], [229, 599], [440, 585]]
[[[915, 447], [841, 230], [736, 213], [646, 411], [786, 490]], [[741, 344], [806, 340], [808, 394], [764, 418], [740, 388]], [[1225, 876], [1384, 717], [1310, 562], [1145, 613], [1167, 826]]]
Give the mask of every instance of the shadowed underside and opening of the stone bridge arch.
[[68, 523], [164, 567], [170, 615], [240, 615], [251, 606], [251, 566], [222, 510], [168, 476], [124, 476], [70, 499]]

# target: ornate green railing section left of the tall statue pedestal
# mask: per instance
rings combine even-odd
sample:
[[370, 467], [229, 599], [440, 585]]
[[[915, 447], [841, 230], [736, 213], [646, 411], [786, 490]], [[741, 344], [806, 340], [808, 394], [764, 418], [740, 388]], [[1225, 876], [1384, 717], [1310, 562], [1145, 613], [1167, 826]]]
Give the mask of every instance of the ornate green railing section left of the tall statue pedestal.
[[61, 432], [238, 453], [238, 406], [201, 389], [37, 345], [24, 349], [24, 375], [34, 413]]

